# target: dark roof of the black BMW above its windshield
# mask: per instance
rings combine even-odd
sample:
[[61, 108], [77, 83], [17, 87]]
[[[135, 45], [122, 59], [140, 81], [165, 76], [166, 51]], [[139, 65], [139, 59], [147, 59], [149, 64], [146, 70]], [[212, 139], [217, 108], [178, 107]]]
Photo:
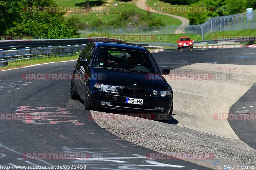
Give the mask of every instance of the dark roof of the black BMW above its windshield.
[[145, 47], [141, 47], [133, 44], [115, 43], [115, 42], [94, 42], [94, 43], [99, 45], [100, 48], [117, 48], [117, 49], [125, 49], [125, 50], [142, 51], [142, 52], [148, 53], [148, 50]]

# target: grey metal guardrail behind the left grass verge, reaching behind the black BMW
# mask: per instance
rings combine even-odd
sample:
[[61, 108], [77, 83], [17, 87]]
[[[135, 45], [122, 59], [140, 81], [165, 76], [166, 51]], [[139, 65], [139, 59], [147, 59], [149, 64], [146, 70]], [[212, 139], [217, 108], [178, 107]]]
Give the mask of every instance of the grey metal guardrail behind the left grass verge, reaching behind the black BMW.
[[[0, 41], [0, 65], [9, 61], [38, 58], [49, 55], [72, 55], [80, 52], [87, 44], [99, 38], [79, 39], [19, 39]], [[121, 42], [119, 39], [103, 38], [103, 42]], [[137, 44], [147, 46], [148, 44]]]

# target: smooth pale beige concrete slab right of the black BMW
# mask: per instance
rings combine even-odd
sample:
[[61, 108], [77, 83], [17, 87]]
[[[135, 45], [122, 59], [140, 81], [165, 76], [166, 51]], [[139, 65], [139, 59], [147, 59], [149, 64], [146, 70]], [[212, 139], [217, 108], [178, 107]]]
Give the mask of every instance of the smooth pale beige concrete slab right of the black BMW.
[[[189, 79], [187, 74], [200, 74], [201, 77]], [[202, 74], [208, 78], [204, 79]], [[256, 66], [196, 63], [172, 70], [166, 79], [173, 89], [173, 117], [179, 120], [178, 126], [238, 138], [227, 120], [213, 117], [228, 114], [230, 107], [252, 87]]]

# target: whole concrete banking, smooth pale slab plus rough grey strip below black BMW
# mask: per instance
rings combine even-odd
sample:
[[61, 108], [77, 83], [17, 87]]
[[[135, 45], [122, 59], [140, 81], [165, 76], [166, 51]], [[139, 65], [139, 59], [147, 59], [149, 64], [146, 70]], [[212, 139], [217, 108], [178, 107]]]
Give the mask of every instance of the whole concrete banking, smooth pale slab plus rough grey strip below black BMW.
[[[185, 76], [211, 76], [205, 80], [201, 80], [202, 77], [176, 77], [182, 76], [182, 73]], [[252, 87], [256, 80], [255, 66], [196, 63], [173, 69], [165, 77], [173, 88], [173, 120], [178, 126], [170, 122], [140, 118], [136, 121], [100, 120], [95, 118], [99, 112], [94, 111], [91, 111], [92, 118], [116, 136], [156, 152], [214, 155], [209, 160], [187, 160], [198, 165], [212, 169], [218, 169], [217, 165], [225, 164], [255, 165], [255, 150], [237, 137], [227, 120], [214, 119], [215, 114], [228, 114], [230, 107]], [[110, 113], [100, 114], [104, 117]]]

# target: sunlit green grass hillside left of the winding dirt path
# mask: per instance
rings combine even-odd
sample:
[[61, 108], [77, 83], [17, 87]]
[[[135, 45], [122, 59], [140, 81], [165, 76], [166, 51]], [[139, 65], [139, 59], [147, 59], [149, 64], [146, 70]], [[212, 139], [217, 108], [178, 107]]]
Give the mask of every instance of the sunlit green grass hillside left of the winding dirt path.
[[[55, 1], [59, 6], [75, 6], [76, 3], [85, 2], [85, 0], [68, 0], [68, 1], [55, 0]], [[102, 1], [104, 3], [101, 5], [101, 7], [104, 7], [106, 10], [106, 12], [104, 13], [89, 13], [89, 12], [88, 13], [69, 13], [66, 16], [67, 17], [76, 16], [86, 26], [87, 23], [88, 25], [90, 25], [93, 22], [95, 22], [97, 19], [100, 19], [102, 22], [109, 22], [115, 19], [124, 10], [136, 9], [136, 11], [138, 12], [147, 13], [147, 11], [139, 9], [135, 4], [136, 1], [134, 0], [129, 2], [120, 2], [120, 1], [113, 0], [111, 1], [111, 3], [107, 3], [107, 0], [102, 0]], [[118, 5], [113, 6], [114, 3], [117, 3]], [[152, 15], [154, 15], [159, 20], [162, 20], [164, 25], [166, 26], [181, 25], [181, 21], [176, 18], [172, 18], [169, 16], [156, 14], [156, 13], [152, 13]]]

